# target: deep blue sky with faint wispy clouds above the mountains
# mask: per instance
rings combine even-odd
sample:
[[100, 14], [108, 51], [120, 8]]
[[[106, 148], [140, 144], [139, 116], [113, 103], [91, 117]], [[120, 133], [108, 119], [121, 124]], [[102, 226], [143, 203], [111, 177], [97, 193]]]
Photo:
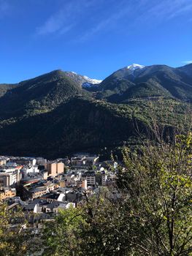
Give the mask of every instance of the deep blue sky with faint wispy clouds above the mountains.
[[191, 0], [0, 0], [0, 83], [192, 62]]

